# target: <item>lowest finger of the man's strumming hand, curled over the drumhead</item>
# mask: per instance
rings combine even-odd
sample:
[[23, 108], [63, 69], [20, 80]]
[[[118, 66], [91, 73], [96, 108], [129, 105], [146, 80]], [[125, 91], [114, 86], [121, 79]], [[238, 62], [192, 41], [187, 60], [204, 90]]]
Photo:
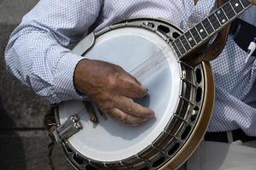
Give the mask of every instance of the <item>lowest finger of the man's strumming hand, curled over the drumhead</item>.
[[114, 119], [120, 121], [120, 122], [125, 122], [127, 124], [131, 124], [133, 126], [137, 126], [138, 124], [142, 122], [148, 121], [148, 119], [142, 118], [142, 117], [137, 117], [137, 116], [131, 116], [125, 114], [125, 112], [119, 110], [119, 109], [111, 109], [108, 111], [108, 115], [112, 116]]

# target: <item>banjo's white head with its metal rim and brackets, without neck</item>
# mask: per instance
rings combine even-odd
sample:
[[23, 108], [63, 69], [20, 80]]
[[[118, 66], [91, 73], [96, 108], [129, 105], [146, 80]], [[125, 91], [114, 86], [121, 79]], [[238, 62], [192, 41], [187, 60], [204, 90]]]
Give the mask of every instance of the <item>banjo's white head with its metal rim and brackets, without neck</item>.
[[[131, 127], [97, 114], [99, 123], [95, 124], [82, 101], [62, 103], [56, 114], [60, 125], [77, 114], [83, 126], [62, 142], [74, 167], [159, 169], [182, 149], [193, 132], [203, 103], [202, 66], [192, 68], [177, 58], [166, 38], [181, 34], [177, 27], [151, 20], [154, 26], [145, 28], [142, 22], [134, 20], [131, 26], [119, 24], [99, 32], [83, 56], [120, 65], [137, 77], [148, 88], [148, 96], [136, 101], [154, 110], [155, 118]], [[157, 24], [166, 26], [169, 35], [152, 31]]]

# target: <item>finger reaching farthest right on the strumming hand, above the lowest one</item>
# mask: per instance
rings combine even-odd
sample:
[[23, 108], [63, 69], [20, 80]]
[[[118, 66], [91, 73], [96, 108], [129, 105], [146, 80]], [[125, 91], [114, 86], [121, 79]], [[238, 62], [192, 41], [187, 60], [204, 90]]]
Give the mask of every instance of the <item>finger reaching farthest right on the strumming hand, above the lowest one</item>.
[[132, 99], [125, 96], [119, 96], [119, 98], [117, 98], [114, 102], [115, 107], [119, 108], [121, 111], [124, 111], [129, 115], [139, 116], [143, 118], [154, 117], [154, 111], [143, 107], [142, 105], [138, 105]]

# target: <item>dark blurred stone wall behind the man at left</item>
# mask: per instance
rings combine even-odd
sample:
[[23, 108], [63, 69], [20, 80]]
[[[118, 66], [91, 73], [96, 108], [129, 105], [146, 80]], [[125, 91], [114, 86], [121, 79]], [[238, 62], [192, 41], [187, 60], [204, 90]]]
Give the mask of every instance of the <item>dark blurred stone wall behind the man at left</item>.
[[[0, 0], [0, 169], [50, 170], [44, 115], [49, 105], [7, 71], [4, 48], [11, 32], [38, 0]], [[53, 151], [55, 169], [72, 169], [61, 148]]]

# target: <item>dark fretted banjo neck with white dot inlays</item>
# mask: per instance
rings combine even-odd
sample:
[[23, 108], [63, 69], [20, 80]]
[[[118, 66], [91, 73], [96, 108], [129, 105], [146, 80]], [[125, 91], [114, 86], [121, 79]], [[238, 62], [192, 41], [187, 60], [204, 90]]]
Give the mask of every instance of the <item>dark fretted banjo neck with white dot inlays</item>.
[[225, 26], [235, 20], [240, 14], [251, 7], [252, 3], [248, 0], [230, 0], [215, 10], [206, 19], [193, 26], [180, 37], [172, 42], [178, 57], [183, 58], [193, 49], [199, 47], [204, 42], [221, 31]]

